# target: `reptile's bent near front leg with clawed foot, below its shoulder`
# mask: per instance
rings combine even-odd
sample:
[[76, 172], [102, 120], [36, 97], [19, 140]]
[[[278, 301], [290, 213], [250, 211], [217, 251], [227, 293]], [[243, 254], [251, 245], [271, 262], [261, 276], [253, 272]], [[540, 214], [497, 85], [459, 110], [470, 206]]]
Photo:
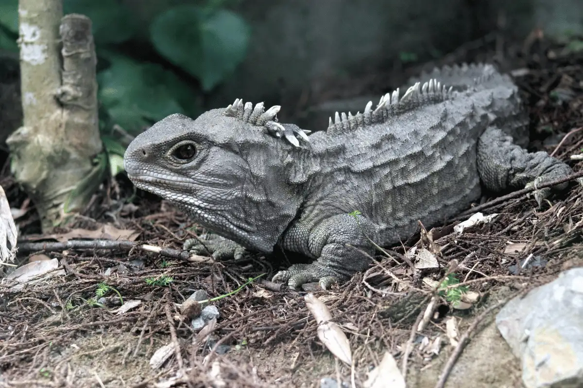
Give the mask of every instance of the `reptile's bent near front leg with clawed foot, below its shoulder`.
[[[303, 232], [300, 221], [300, 225], [286, 233], [284, 246], [296, 251], [304, 245], [300, 241], [305, 236]], [[308, 250], [318, 259], [311, 264], [295, 264], [279, 271], [272, 281], [287, 282], [291, 289], [318, 281], [325, 290], [334, 283], [348, 280], [370, 264], [370, 259], [361, 251], [374, 254], [374, 245], [367, 239], [367, 236], [374, 239], [374, 234], [374, 226], [363, 216], [332, 216], [308, 232]]]

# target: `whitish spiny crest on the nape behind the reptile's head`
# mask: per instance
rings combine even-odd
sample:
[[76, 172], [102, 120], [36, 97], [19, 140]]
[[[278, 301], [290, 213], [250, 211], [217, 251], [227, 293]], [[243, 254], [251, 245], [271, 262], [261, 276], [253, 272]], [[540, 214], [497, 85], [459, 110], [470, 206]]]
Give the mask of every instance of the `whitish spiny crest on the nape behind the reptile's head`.
[[[245, 102], [237, 98], [233, 104], [224, 109], [224, 115], [240, 119], [244, 123], [249, 123], [254, 126], [263, 127], [265, 131], [275, 137], [285, 137], [287, 141], [295, 147], [300, 147], [300, 142], [297, 138], [304, 141], [310, 141], [307, 134], [311, 131], [302, 130], [299, 128], [286, 128], [278, 123], [278, 112], [282, 107], [274, 105], [265, 111], [263, 102], [255, 104], [255, 108], [251, 102]], [[296, 138], [297, 136], [297, 138]]]

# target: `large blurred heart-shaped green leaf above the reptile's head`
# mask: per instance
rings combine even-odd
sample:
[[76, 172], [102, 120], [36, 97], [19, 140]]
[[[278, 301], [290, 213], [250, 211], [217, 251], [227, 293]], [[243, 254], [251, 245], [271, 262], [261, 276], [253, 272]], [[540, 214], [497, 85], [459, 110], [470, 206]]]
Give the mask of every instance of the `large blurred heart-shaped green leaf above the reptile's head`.
[[154, 48], [201, 81], [205, 91], [230, 76], [247, 54], [251, 28], [225, 9], [168, 9], [150, 26]]

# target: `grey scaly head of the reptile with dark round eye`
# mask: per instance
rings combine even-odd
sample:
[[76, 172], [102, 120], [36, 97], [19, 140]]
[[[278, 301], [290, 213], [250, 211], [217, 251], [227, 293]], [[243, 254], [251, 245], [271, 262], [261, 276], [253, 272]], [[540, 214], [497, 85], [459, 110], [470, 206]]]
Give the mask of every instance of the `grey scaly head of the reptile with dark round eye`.
[[290, 145], [280, 143], [226, 109], [195, 120], [175, 114], [129, 144], [124, 166], [135, 186], [172, 202], [199, 225], [271, 252], [300, 205], [283, 173], [282, 149]]

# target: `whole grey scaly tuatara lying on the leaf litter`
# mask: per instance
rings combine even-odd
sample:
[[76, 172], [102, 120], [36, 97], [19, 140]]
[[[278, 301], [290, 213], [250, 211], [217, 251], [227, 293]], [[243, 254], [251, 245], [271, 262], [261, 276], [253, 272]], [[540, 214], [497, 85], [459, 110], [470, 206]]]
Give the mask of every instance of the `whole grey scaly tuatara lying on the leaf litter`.
[[[447, 86], [445, 86], [447, 85]], [[125, 152], [134, 184], [171, 201], [219, 234], [185, 248], [215, 258], [276, 244], [316, 259], [273, 281], [325, 289], [370, 264], [370, 237], [398, 243], [417, 220], [436, 225], [480, 198], [572, 173], [545, 152], [529, 154], [517, 87], [491, 65], [434, 70], [384, 95], [376, 108], [339, 115], [326, 131], [282, 124], [237, 99], [196, 120], [171, 115]], [[556, 187], [561, 190], [567, 184]], [[540, 202], [549, 190], [535, 192]], [[357, 211], [357, 212], [356, 212]]]

